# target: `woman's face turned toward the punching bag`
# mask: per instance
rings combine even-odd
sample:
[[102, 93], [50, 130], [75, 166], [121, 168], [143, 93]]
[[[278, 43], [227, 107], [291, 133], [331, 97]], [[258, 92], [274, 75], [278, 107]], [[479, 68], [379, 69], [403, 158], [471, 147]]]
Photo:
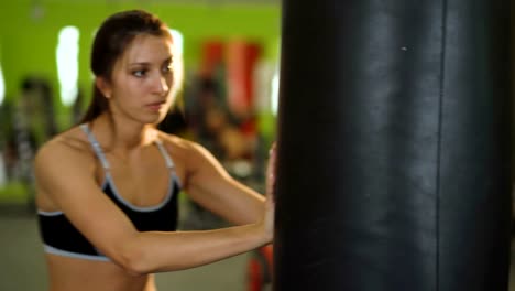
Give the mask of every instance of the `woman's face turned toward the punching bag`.
[[103, 91], [114, 118], [142, 123], [164, 119], [174, 99], [172, 52], [172, 40], [167, 37], [150, 34], [134, 37], [116, 62], [111, 82]]

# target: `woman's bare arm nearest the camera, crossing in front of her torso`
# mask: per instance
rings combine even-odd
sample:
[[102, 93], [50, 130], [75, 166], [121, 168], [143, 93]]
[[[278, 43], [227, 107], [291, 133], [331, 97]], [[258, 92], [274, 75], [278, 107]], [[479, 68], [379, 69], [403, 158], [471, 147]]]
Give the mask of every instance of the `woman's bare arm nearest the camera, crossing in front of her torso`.
[[[197, 267], [271, 241], [273, 207], [254, 224], [184, 233], [138, 231], [101, 192], [95, 160], [65, 143], [43, 147], [35, 159], [37, 188], [106, 256], [131, 273]], [[259, 215], [258, 215], [259, 216]]]

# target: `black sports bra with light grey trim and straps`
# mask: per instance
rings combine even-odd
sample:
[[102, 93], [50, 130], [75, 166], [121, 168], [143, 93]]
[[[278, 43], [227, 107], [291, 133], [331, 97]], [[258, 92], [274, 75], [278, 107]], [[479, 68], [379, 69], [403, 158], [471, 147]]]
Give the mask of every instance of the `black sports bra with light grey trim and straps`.
[[[141, 207], [132, 205], [117, 191], [109, 173], [109, 163], [100, 144], [97, 142], [87, 125], [80, 128], [88, 136], [97, 158], [100, 160], [106, 173], [101, 186], [106, 195], [129, 217], [140, 231], [174, 231], [177, 228], [177, 195], [180, 191], [180, 182], [174, 171], [174, 163], [160, 140], [156, 146], [162, 153], [166, 166], [169, 170], [169, 185], [165, 198], [157, 205]], [[95, 215], [95, 214], [91, 214]], [[89, 242], [80, 231], [75, 228], [63, 212], [37, 211], [40, 234], [46, 252], [73, 258], [109, 261], [95, 246]]]

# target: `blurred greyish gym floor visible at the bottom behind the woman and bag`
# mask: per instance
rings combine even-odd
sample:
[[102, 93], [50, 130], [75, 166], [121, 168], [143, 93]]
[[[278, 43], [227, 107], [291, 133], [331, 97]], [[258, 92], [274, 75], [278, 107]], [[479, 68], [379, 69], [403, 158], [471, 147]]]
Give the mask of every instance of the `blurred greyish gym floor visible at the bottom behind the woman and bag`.
[[[47, 290], [37, 224], [33, 215], [0, 216], [0, 290]], [[515, 250], [515, 242], [512, 245]], [[185, 271], [157, 274], [158, 290], [245, 291], [250, 254]], [[509, 290], [515, 291], [515, 256], [512, 255]]]

